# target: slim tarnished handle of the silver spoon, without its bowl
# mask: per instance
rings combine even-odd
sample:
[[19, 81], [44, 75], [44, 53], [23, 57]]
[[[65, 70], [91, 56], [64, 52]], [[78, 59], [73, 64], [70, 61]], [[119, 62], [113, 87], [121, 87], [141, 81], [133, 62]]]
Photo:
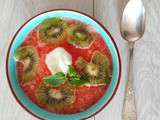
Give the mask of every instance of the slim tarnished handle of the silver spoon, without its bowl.
[[135, 94], [133, 90], [133, 45], [134, 43], [130, 43], [130, 64], [129, 64], [129, 76], [128, 82], [126, 86], [126, 93], [124, 98], [123, 105], [123, 120], [137, 120], [136, 106], [135, 106]]

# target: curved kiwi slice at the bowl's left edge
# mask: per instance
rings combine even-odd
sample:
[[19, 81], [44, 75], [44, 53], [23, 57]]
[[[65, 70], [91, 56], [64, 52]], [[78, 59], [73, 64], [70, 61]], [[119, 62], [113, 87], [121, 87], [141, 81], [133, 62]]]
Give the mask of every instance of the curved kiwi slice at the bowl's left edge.
[[35, 48], [31, 46], [20, 47], [15, 51], [15, 60], [24, 66], [22, 82], [26, 83], [34, 80], [37, 74], [39, 56]]

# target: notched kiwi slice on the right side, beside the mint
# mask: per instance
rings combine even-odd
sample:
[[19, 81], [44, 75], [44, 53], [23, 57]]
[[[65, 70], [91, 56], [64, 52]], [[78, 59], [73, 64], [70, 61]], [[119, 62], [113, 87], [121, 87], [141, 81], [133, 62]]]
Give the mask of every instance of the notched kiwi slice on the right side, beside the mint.
[[90, 63], [83, 58], [78, 58], [76, 66], [81, 79], [89, 80], [90, 84], [105, 84], [111, 80], [108, 59], [100, 52], [94, 53]]

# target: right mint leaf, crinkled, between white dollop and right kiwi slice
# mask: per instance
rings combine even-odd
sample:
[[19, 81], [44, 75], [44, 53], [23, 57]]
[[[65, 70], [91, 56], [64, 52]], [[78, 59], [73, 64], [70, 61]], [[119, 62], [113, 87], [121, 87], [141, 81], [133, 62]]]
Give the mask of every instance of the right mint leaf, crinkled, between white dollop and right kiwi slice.
[[67, 73], [67, 78], [70, 84], [80, 86], [84, 84], [84, 81], [80, 79], [79, 75], [77, 74], [76, 70], [73, 68], [73, 66], [69, 65], [69, 70]]

